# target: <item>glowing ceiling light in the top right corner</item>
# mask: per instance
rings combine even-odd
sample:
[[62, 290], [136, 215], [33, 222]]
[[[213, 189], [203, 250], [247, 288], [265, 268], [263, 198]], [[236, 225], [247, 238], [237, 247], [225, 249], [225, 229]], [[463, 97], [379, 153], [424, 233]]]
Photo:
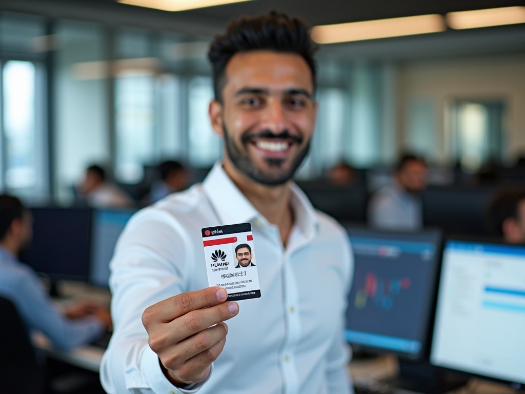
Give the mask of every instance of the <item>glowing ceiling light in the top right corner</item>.
[[453, 29], [512, 25], [525, 23], [525, 7], [516, 6], [449, 12], [446, 18], [448, 26]]

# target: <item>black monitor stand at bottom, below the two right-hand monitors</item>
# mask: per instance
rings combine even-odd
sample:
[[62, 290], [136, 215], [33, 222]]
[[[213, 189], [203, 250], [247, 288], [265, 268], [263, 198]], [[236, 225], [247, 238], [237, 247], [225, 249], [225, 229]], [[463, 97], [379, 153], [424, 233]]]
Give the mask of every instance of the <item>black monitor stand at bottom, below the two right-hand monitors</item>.
[[447, 374], [425, 361], [398, 360], [398, 364], [397, 376], [383, 381], [392, 388], [422, 394], [443, 394], [467, 382], [467, 378]]

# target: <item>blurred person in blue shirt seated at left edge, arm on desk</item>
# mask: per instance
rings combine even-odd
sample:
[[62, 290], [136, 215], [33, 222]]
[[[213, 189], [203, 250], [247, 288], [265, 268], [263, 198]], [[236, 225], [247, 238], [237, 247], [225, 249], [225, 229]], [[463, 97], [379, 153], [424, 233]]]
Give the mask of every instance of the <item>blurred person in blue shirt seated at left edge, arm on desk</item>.
[[0, 195], [0, 295], [16, 306], [28, 331], [38, 330], [59, 349], [85, 345], [111, 327], [105, 307], [79, 302], [61, 313], [44, 292], [36, 273], [18, 261], [31, 241], [32, 219], [14, 196]]

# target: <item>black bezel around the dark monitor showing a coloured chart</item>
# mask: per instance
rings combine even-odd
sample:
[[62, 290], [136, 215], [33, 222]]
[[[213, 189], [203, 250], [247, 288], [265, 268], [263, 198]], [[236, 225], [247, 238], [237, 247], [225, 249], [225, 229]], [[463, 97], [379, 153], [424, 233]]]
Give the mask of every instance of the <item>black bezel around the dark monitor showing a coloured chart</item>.
[[[425, 322], [423, 324], [423, 333], [426, 333], [424, 335], [424, 338], [422, 338], [422, 347], [417, 354], [409, 353], [405, 351], [395, 350], [395, 349], [385, 349], [381, 347], [375, 347], [371, 345], [362, 345], [362, 344], [356, 344], [349, 342], [352, 349], [354, 351], [360, 352], [366, 352], [376, 355], [383, 355], [383, 354], [391, 354], [398, 357], [400, 360], [405, 360], [409, 362], [418, 362], [418, 361], [424, 361], [428, 362], [429, 355], [430, 355], [430, 343], [432, 341], [432, 328], [434, 326], [434, 316], [435, 316], [435, 307], [436, 307], [436, 297], [437, 297], [437, 285], [438, 285], [438, 278], [440, 275], [440, 268], [441, 268], [441, 260], [442, 260], [442, 250], [443, 250], [443, 241], [444, 241], [444, 235], [443, 231], [440, 230], [437, 227], [425, 227], [424, 229], [421, 229], [419, 231], [396, 231], [396, 230], [380, 230], [380, 229], [374, 229], [369, 226], [364, 225], [356, 225], [355, 223], [344, 223], [343, 224], [345, 231], [348, 233], [348, 229], [355, 229], [356, 231], [370, 231], [370, 232], [380, 232], [384, 233], [385, 235], [416, 235], [416, 234], [433, 234], [436, 236], [436, 253], [434, 254], [433, 258], [433, 272], [432, 277], [430, 278], [430, 282], [432, 285], [432, 288], [429, 289], [429, 307], [427, 311], [427, 316], [424, 318]], [[349, 235], [350, 236], [350, 235]]]

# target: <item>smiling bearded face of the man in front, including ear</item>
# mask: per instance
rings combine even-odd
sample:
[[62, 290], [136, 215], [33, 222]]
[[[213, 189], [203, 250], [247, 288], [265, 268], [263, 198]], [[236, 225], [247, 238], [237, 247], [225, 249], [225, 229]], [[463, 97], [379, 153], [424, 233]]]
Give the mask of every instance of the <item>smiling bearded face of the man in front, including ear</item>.
[[225, 139], [226, 171], [266, 185], [288, 181], [308, 153], [317, 111], [312, 95], [312, 75], [299, 55], [234, 55], [226, 66], [223, 102], [213, 101], [209, 109]]

